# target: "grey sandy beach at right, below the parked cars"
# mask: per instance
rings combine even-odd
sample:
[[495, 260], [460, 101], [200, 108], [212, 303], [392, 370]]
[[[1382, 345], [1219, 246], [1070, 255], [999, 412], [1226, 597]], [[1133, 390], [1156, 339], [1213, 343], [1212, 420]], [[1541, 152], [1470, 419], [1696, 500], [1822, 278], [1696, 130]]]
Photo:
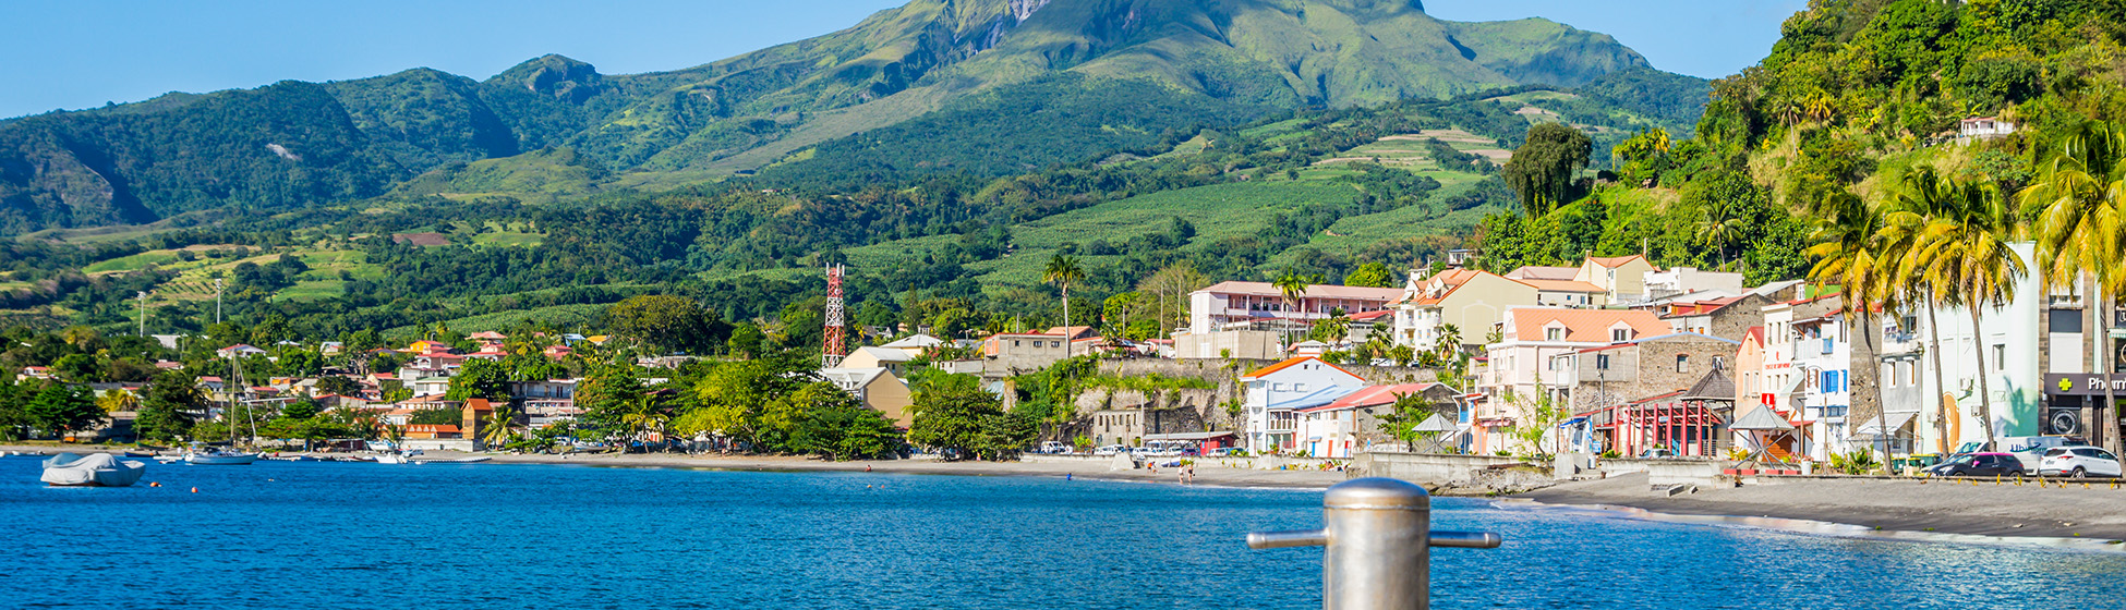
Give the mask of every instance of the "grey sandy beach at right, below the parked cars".
[[2049, 480], [1794, 478], [1773, 485], [1650, 491], [1646, 474], [1577, 480], [1514, 497], [1541, 504], [1618, 506], [1663, 514], [1773, 516], [1886, 531], [2126, 540], [2126, 485]]

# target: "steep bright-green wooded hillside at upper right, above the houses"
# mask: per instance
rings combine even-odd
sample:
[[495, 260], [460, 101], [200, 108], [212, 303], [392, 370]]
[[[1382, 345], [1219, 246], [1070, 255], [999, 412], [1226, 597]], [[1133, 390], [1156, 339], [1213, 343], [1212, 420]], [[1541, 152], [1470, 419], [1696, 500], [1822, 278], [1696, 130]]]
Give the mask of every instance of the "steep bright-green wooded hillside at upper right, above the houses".
[[[2126, 119], [2126, 2], [1818, 0], [1765, 62], [1711, 83], [1697, 130], [1614, 147], [1620, 181], [1486, 219], [1486, 264], [1650, 253], [1799, 278], [1818, 221], [1905, 193], [1911, 168], [2013, 196], [2045, 142]], [[1998, 117], [2018, 132], [1958, 138]]]

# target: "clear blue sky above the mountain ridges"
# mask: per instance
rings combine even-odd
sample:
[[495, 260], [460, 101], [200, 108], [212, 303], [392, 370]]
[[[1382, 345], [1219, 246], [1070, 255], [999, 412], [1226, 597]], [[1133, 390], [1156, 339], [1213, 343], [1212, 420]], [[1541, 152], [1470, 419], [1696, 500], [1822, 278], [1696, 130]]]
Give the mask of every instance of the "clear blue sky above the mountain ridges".
[[[1061, 0], [1067, 2], [1067, 0]], [[487, 79], [561, 53], [600, 72], [672, 70], [848, 28], [901, 0], [0, 2], [0, 117], [166, 91], [438, 68]], [[1656, 68], [1756, 64], [1805, 0], [1424, 0], [1441, 19], [1548, 17], [1614, 34]]]

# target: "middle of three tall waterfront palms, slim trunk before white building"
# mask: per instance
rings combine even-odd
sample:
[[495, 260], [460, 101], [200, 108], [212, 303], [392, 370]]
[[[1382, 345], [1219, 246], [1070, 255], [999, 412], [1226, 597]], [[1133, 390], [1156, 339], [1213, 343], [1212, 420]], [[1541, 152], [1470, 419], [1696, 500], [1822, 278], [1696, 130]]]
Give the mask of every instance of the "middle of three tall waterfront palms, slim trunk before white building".
[[1979, 308], [1998, 310], [2005, 306], [2028, 268], [2022, 255], [2009, 249], [2018, 223], [1998, 189], [1954, 181], [1952, 193], [1954, 215], [1926, 223], [1916, 240], [1922, 264], [1920, 278], [1935, 291], [1937, 302], [1971, 312], [1971, 336], [1977, 344], [1979, 366], [1979, 419], [1986, 423], [1986, 444], [1992, 446], [1992, 387], [1986, 380]]

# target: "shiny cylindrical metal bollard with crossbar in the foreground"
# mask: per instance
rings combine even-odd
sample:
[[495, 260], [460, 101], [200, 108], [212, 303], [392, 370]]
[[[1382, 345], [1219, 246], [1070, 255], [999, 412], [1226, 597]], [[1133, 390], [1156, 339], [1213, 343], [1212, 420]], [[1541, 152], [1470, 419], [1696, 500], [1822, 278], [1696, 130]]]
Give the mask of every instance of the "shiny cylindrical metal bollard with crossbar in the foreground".
[[1327, 546], [1322, 610], [1431, 608], [1431, 546], [1499, 548], [1490, 531], [1431, 531], [1433, 497], [1395, 478], [1352, 478], [1322, 495], [1322, 529], [1248, 533], [1250, 548]]

